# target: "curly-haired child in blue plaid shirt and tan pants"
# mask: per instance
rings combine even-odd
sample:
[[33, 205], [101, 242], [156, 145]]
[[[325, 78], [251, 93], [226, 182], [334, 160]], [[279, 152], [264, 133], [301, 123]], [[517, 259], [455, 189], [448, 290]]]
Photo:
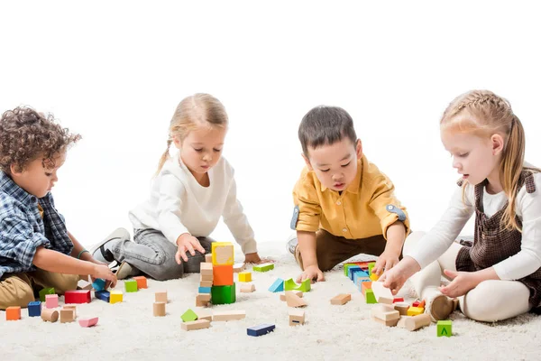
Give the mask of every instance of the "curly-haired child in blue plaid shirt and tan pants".
[[69, 145], [79, 139], [32, 108], [0, 119], [0, 310], [26, 307], [43, 287], [75, 290], [79, 274], [116, 283], [109, 267], [69, 234], [50, 194]]

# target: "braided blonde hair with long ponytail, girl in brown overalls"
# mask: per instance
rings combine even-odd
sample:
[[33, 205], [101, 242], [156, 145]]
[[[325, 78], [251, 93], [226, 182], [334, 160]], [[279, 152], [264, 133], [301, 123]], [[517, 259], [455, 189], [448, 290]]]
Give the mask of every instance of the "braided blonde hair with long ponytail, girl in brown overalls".
[[[504, 137], [500, 182], [509, 204], [503, 213], [502, 227], [521, 231], [515, 213], [518, 180], [524, 168], [525, 136], [524, 128], [518, 116], [513, 113], [509, 101], [489, 90], [469, 91], [456, 97], [447, 106], [440, 128], [442, 132], [458, 131], [481, 137], [501, 134]], [[467, 180], [463, 181], [463, 192], [467, 184]]]

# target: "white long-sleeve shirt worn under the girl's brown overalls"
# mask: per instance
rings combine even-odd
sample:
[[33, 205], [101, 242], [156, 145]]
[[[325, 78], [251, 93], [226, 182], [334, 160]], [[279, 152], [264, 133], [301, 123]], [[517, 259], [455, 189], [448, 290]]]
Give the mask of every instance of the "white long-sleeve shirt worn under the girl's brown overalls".
[[[516, 212], [522, 220], [521, 249], [517, 255], [494, 264], [493, 268], [501, 280], [518, 280], [536, 272], [541, 267], [541, 173], [534, 174], [536, 191], [527, 193], [526, 186], [518, 191]], [[507, 202], [503, 191], [482, 196], [484, 213], [491, 217]], [[457, 187], [444, 216], [408, 254], [421, 268], [435, 261], [453, 244], [468, 219], [475, 211], [475, 190], [468, 185], [463, 199], [462, 188]]]

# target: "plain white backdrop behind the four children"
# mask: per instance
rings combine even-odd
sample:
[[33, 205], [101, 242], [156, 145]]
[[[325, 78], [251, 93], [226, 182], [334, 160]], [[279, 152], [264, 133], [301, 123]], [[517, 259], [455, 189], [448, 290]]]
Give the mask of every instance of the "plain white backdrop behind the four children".
[[[417, 230], [442, 216], [458, 178], [438, 122], [459, 94], [509, 98], [527, 160], [541, 164], [536, 9], [357, 3], [2, 3], [0, 110], [33, 106], [83, 135], [53, 194], [84, 245], [115, 227], [132, 231], [127, 212], [149, 195], [170, 117], [195, 92], [218, 97], [230, 116], [224, 154], [260, 242], [291, 232], [304, 164], [297, 129], [313, 106], [353, 116]], [[222, 224], [213, 236], [232, 240]]]

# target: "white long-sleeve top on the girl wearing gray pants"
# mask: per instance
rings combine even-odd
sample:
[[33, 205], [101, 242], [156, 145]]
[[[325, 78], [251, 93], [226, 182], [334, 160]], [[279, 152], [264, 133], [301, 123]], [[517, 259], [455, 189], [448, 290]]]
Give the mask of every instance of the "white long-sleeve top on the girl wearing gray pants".
[[153, 180], [151, 198], [130, 211], [133, 227], [158, 229], [176, 245], [183, 233], [209, 236], [223, 217], [243, 253], [257, 252], [252, 227], [236, 198], [233, 167], [221, 157], [208, 177], [210, 185], [201, 186], [175, 154]]

